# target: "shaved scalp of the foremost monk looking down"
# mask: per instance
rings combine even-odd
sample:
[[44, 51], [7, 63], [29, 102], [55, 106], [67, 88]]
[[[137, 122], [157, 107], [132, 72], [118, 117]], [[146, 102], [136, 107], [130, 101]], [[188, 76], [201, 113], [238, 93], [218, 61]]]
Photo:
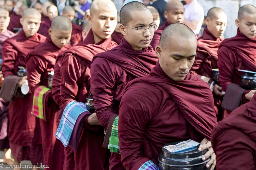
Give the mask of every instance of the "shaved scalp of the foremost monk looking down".
[[194, 39], [197, 41], [197, 37], [195, 33], [190, 29], [187, 25], [181, 23], [171, 24], [164, 29], [162, 32], [161, 38], [159, 40], [159, 46], [165, 48], [170, 45], [172, 39], [175, 38], [186, 38], [186, 39]]

